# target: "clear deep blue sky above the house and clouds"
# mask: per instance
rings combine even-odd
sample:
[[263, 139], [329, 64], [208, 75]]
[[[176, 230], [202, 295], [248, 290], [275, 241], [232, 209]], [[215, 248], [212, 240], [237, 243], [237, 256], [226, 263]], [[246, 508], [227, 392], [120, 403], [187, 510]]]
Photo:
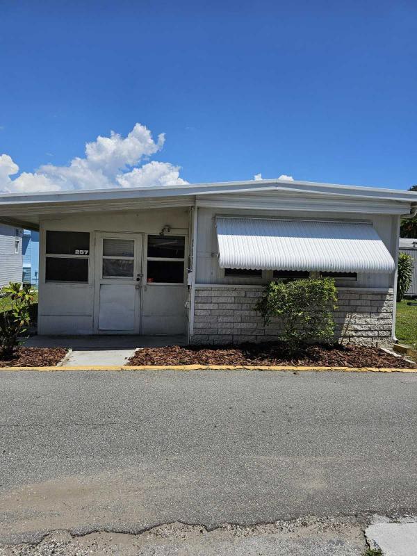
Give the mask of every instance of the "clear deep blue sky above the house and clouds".
[[140, 122], [189, 182], [409, 188], [416, 37], [415, 1], [2, 0], [0, 154], [61, 167]]

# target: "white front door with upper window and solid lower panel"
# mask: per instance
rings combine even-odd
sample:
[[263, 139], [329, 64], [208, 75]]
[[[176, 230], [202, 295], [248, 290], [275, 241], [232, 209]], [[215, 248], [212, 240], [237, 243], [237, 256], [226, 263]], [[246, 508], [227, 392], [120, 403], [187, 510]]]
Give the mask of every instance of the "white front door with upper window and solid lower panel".
[[101, 334], [139, 334], [142, 234], [96, 234], [95, 327]]

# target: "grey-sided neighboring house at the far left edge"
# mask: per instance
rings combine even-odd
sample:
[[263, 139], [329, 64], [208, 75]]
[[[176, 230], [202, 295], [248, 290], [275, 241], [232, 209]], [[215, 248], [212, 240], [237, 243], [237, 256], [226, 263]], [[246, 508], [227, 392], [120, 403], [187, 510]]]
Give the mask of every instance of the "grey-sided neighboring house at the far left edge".
[[0, 287], [22, 281], [21, 228], [0, 224]]

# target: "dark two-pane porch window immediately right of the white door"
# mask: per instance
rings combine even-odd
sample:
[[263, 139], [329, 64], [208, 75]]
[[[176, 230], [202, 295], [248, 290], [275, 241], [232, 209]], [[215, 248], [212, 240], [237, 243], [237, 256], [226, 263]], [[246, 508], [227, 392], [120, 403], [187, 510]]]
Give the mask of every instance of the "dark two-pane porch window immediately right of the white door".
[[147, 284], [183, 284], [186, 238], [148, 236]]

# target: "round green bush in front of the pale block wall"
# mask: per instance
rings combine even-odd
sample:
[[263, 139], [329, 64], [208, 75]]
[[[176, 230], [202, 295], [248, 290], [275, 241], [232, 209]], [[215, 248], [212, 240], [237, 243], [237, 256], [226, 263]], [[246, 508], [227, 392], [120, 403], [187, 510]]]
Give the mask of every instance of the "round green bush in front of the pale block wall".
[[270, 282], [255, 309], [263, 316], [265, 325], [273, 317], [281, 317], [277, 339], [293, 349], [311, 341], [332, 342], [332, 311], [337, 309], [336, 302], [333, 278], [307, 278]]

